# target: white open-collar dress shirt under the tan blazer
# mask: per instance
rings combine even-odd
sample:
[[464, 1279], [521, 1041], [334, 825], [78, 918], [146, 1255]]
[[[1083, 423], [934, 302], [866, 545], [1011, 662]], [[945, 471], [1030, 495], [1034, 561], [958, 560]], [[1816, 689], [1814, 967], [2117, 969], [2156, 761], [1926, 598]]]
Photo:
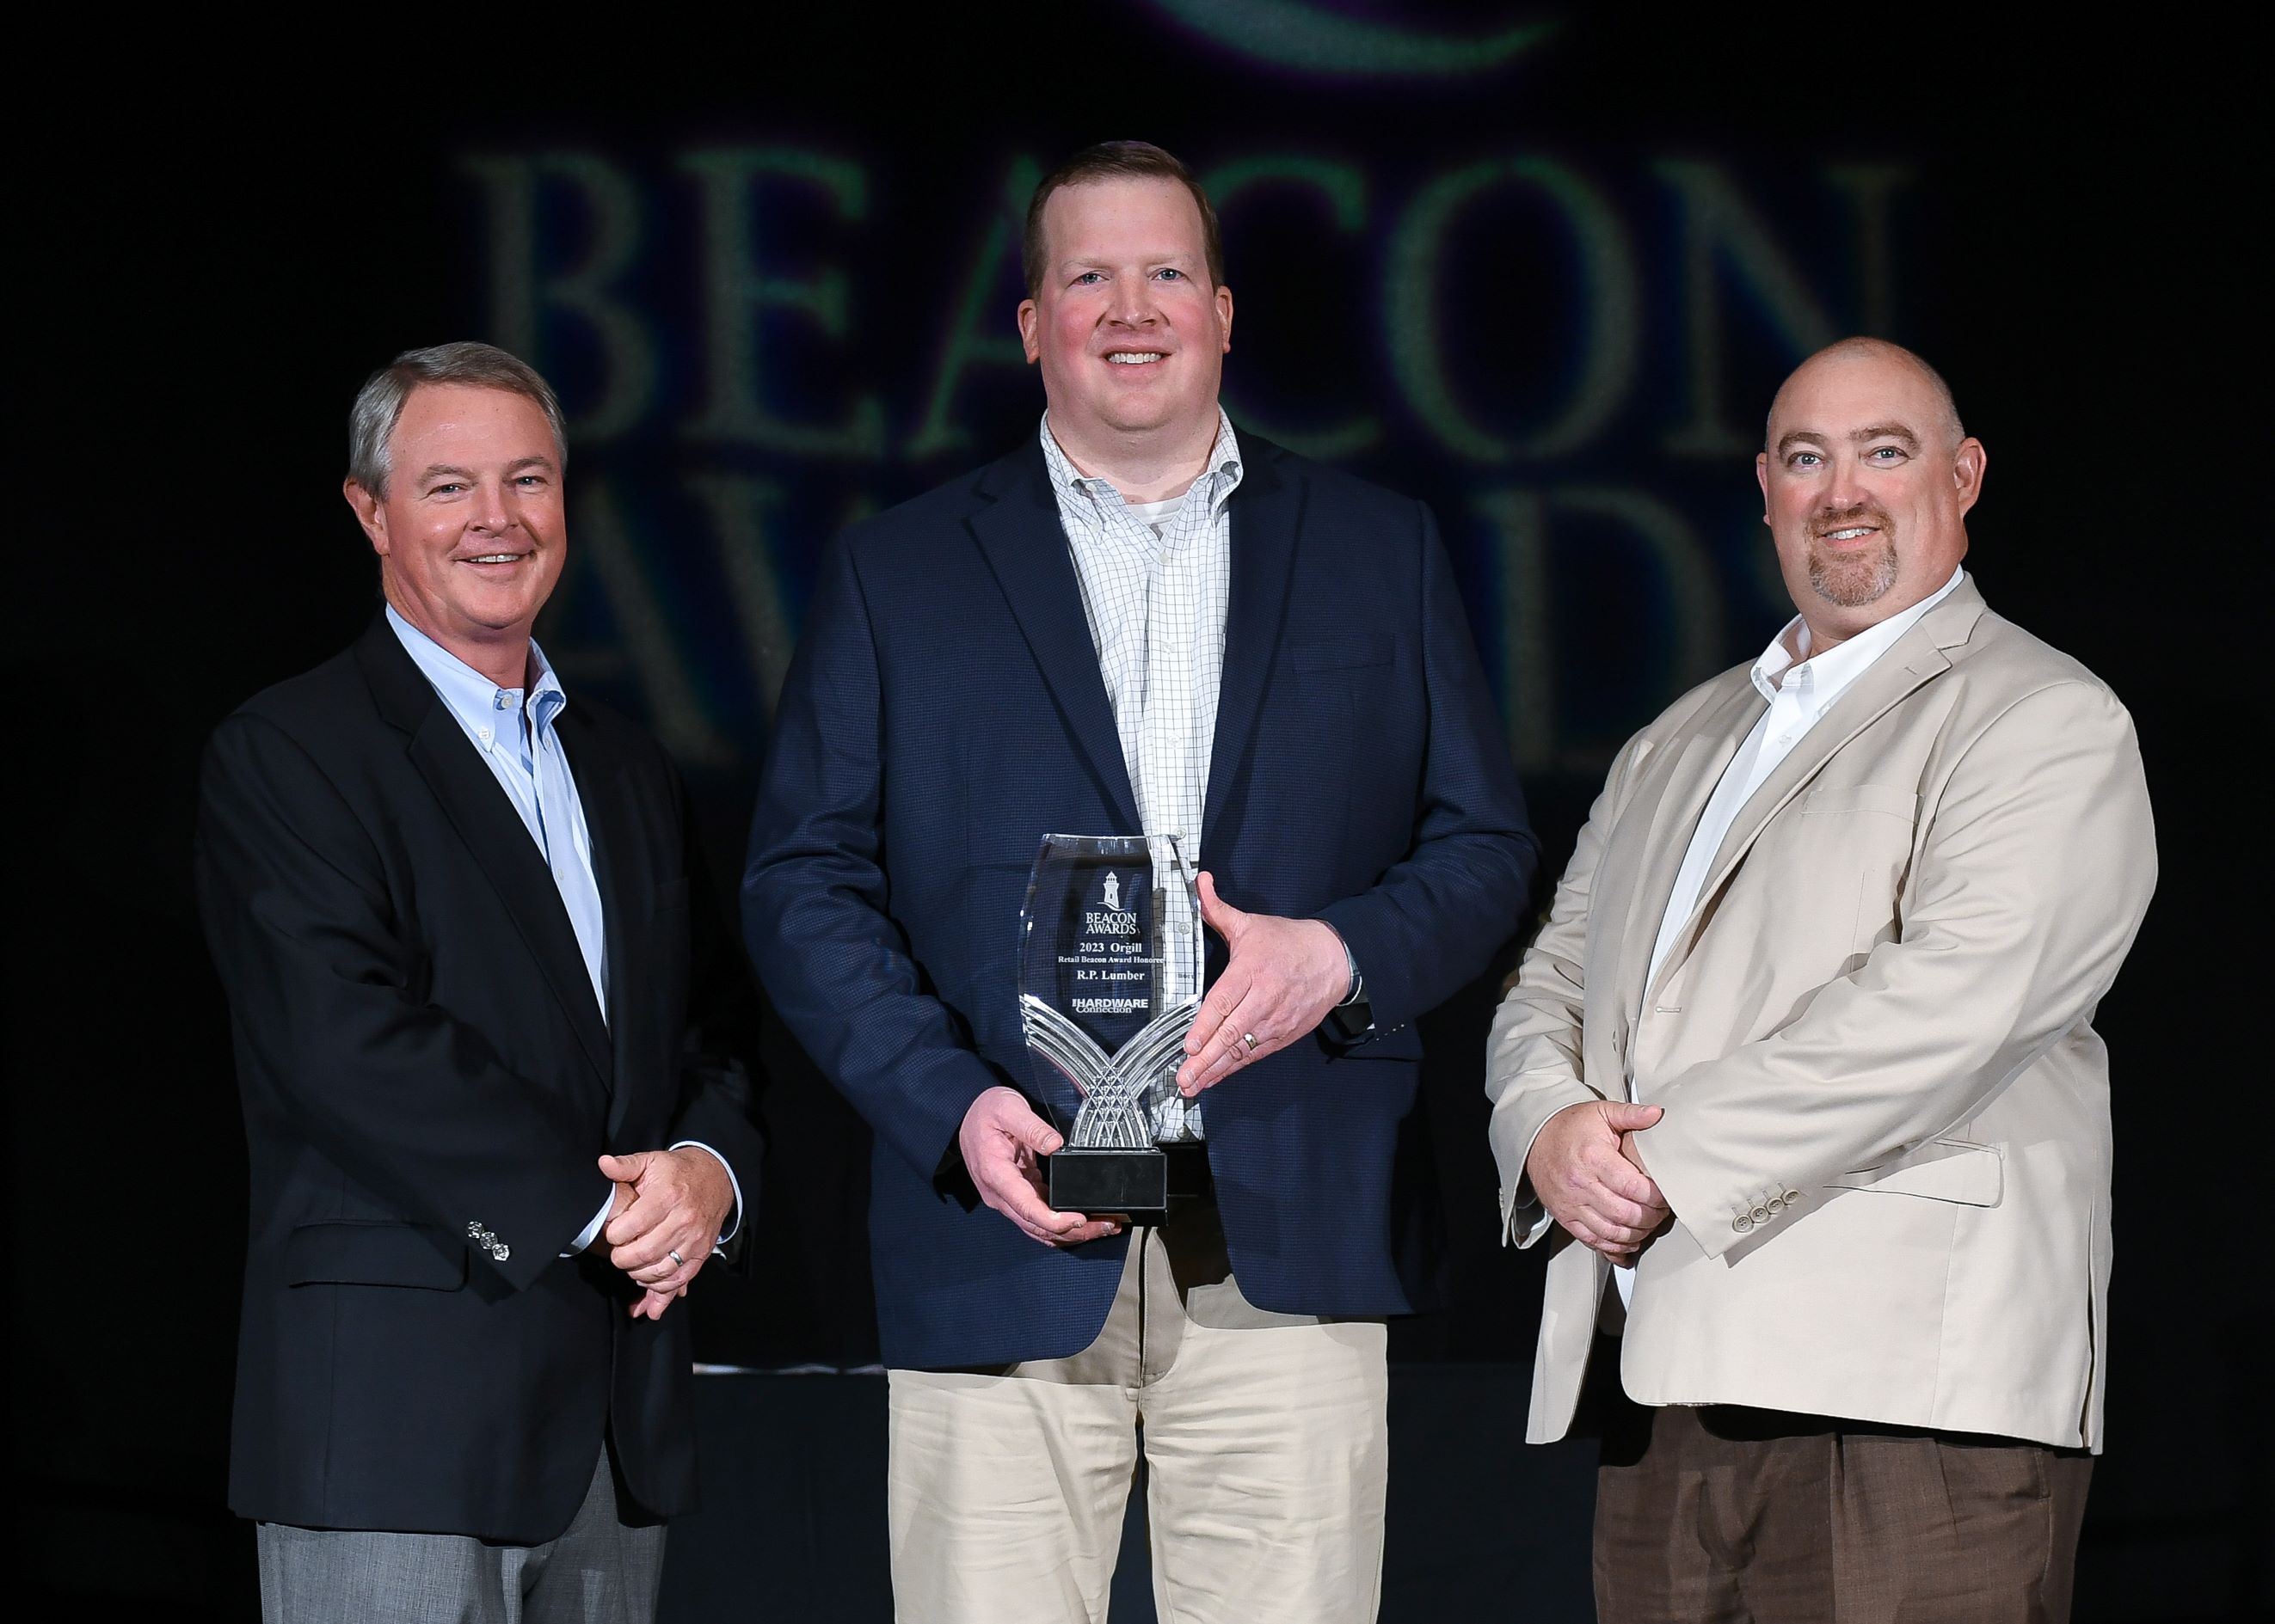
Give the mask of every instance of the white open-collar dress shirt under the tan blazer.
[[[1729, 835], [1731, 823], [1738, 821], [1745, 803], [1754, 798], [1754, 792], [1777, 771], [1779, 762], [1793, 755], [1793, 748], [1809, 737], [1809, 730], [1818, 726], [1825, 712], [1856, 685], [1856, 678], [1870, 671], [1872, 662], [1888, 653], [1897, 637], [1918, 625], [1922, 614], [1943, 603], [1961, 580], [1966, 580], [1966, 571], [1954, 569], [1952, 578], [1934, 594], [1920, 598], [1902, 614], [1891, 614], [1886, 621], [1868, 625], [1845, 644], [1834, 644], [1822, 655], [1809, 653], [1809, 623], [1797, 614], [1770, 639], [1761, 660], [1754, 662], [1754, 687], [1768, 701], [1768, 710], [1754, 719], [1745, 744], [1729, 757], [1729, 767], [1722, 769], [1706, 810], [1699, 812], [1699, 826], [1690, 830], [1690, 846], [1684, 848], [1684, 867], [1674, 871], [1668, 910], [1658, 917], [1658, 937], [1652, 942], [1652, 967], [1643, 978], [1645, 996], [1649, 996], [1647, 989], [1652, 983], [1658, 980], [1658, 967], [1665, 964], [1674, 939], [1697, 910], [1699, 887], [1706, 885], [1715, 853], [1722, 851], [1722, 839]], [[1636, 1096], [1633, 1076], [1627, 1078], [1627, 1096]], [[1615, 1262], [1613, 1278], [1620, 1283], [1620, 1301], [1633, 1301], [1633, 1267]]]

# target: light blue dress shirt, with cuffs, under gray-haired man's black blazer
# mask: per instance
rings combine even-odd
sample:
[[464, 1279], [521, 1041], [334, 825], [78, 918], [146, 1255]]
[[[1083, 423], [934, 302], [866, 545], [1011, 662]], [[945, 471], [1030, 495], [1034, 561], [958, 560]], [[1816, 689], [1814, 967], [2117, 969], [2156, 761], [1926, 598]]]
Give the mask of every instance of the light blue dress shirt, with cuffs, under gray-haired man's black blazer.
[[[435, 687], [444, 710], [466, 730], [466, 741], [473, 744], [475, 755], [482, 757], [505, 798], [514, 803], [514, 812], [521, 814], [521, 826], [537, 842], [539, 855], [544, 855], [546, 867], [553, 871], [553, 887], [560, 892], [562, 908], [569, 912], [569, 928], [576, 930], [578, 951], [585, 955], [585, 973], [592, 976], [592, 994], [601, 1003], [601, 1019], [607, 1021], [607, 921], [601, 914], [601, 883], [592, 869], [592, 830], [585, 828], [585, 803], [578, 798], [569, 755], [553, 730], [553, 721], [569, 705], [560, 678], [553, 676], [553, 664], [532, 639], [530, 669], [537, 673], [537, 680], [526, 691], [519, 687], [498, 687], [396, 614], [396, 605], [391, 603], [387, 605], [387, 623], [394, 628], [396, 641], [403, 644], [403, 653], [412, 657], [412, 664]], [[719, 1237], [723, 1246], [742, 1228], [742, 1180], [735, 1178], [728, 1160], [701, 1140], [680, 1140], [671, 1149], [687, 1146], [717, 1155], [719, 1167], [726, 1167], [728, 1185], [735, 1190], [735, 1212], [726, 1226], [726, 1235]], [[594, 1242], [614, 1203], [617, 1194], [610, 1192], [592, 1224], [562, 1253], [564, 1258], [585, 1251]]]

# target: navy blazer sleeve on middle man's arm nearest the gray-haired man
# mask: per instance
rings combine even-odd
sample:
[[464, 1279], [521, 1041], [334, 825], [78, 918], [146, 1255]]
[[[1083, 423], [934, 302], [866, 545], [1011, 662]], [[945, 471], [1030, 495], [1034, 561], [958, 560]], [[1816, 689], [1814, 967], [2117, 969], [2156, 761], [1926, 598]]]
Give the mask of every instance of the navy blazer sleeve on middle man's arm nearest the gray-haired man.
[[[965, 1112], [1008, 1083], [935, 999], [887, 912], [883, 685], [851, 548], [821, 566], [774, 716], [742, 876], [776, 1012], [878, 1137], [949, 1180]], [[946, 1185], [944, 1185], [946, 1187]]]

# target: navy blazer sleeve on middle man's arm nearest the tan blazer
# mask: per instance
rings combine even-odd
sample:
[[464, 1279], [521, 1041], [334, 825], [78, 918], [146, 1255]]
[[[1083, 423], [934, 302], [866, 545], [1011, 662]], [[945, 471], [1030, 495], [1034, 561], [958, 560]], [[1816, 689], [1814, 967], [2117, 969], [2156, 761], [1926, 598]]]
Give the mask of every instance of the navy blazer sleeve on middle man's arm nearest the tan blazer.
[[1367, 978], [1376, 1030], [1413, 1021], [1476, 976], [1522, 926], [1540, 871], [1438, 523], [1420, 503], [1415, 514], [1429, 755], [1413, 844], [1370, 889], [1320, 910]]

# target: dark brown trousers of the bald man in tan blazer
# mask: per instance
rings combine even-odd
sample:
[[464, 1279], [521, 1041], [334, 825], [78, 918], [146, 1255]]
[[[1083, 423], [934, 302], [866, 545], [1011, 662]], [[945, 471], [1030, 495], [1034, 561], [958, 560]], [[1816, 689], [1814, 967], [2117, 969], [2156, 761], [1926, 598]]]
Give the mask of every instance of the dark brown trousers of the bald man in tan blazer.
[[2091, 1474], [2082, 1449], [1613, 1394], [1597, 1619], [2061, 1624]]

